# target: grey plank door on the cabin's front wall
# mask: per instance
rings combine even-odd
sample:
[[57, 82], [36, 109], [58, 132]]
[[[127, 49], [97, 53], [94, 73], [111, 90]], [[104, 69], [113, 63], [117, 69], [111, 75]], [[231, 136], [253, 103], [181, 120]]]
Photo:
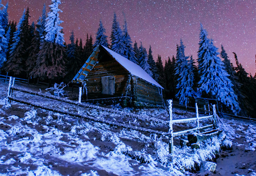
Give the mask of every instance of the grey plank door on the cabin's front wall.
[[114, 95], [115, 93], [115, 77], [105, 76], [101, 77], [102, 94]]

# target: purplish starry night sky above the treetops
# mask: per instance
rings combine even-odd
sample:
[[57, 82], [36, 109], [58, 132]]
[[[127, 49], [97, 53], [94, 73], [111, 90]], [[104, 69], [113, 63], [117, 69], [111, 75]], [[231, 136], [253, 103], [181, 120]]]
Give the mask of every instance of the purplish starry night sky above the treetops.
[[[5, 4], [7, 0], [3, 0]], [[19, 21], [24, 8], [30, 8], [30, 24], [36, 22], [46, 3], [49, 12], [50, 0], [9, 0], [9, 20]], [[132, 38], [149, 48], [153, 56], [161, 55], [163, 60], [176, 55], [176, 44], [183, 40], [186, 55], [197, 58], [200, 22], [214, 39], [215, 46], [221, 43], [231, 60], [236, 52], [238, 60], [246, 71], [255, 74], [256, 46], [256, 1], [255, 0], [62, 0], [59, 6], [65, 41], [74, 30], [76, 38], [86, 34], [95, 39], [99, 20], [102, 20], [110, 36], [113, 13], [123, 28], [124, 17]], [[108, 38], [110, 43], [110, 39]], [[94, 41], [93, 41], [94, 42]]]

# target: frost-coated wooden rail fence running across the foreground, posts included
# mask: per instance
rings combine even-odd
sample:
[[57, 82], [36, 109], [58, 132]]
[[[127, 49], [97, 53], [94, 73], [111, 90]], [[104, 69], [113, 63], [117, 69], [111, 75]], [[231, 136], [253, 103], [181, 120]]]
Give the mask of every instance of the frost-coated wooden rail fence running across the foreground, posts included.
[[[80, 106], [80, 107], [93, 108], [93, 109], [98, 109], [98, 110], [101, 110], [101, 111], [106, 111], [106, 112], [111, 112], [111, 113], [116, 113], [116, 114], [121, 114], [121, 115], [128, 115], [128, 116], [132, 116], [132, 117], [135, 117], [135, 118], [142, 119], [142, 116], [137, 115], [137, 114], [133, 114], [133, 113], [117, 111], [117, 110], [113, 110], [113, 109], [109, 109], [109, 108], [103, 108], [103, 107], [99, 107], [99, 106], [95, 106], [95, 105], [91, 105], [91, 104], [79, 103], [77, 101], [72, 101], [72, 100], [56, 97], [56, 96], [49, 95], [49, 94], [42, 93], [42, 92], [34, 92], [34, 91], [26, 90], [26, 89], [17, 88], [17, 87], [14, 87], [14, 81], [15, 81], [15, 78], [10, 77], [8, 92], [7, 92], [7, 100], [6, 100], [6, 103], [5, 103], [5, 106], [7, 106], [7, 107], [11, 106], [11, 104], [10, 104], [11, 101], [15, 101], [15, 102], [18, 102], [18, 103], [27, 104], [29, 106], [33, 106], [33, 107], [36, 107], [36, 108], [41, 108], [41, 109], [44, 109], [44, 110], [48, 110], [48, 111], [57, 112], [57, 113], [60, 113], [60, 114], [65, 114], [65, 115], [69, 115], [69, 116], [74, 116], [74, 117], [78, 117], [78, 118], [91, 120], [93, 122], [105, 123], [107, 125], [122, 127], [122, 128], [125, 128], [125, 129], [131, 129], [131, 130], [136, 130], [136, 131], [141, 131], [141, 132], [146, 132], [146, 133], [151, 133], [151, 134], [157, 134], [157, 135], [161, 135], [161, 136], [168, 136], [168, 138], [169, 138], [168, 139], [169, 153], [173, 153], [173, 138], [174, 137], [178, 137], [178, 136], [181, 136], [181, 135], [184, 135], [184, 134], [187, 134], [187, 133], [191, 133], [193, 131], [199, 132], [200, 130], [209, 129], [211, 127], [213, 127], [215, 129], [217, 127], [215, 105], [213, 105], [213, 107], [212, 107], [213, 114], [209, 115], [209, 116], [199, 117], [198, 108], [197, 108], [197, 104], [196, 104], [196, 118], [172, 119], [172, 100], [167, 100], [167, 104], [168, 104], [167, 111], [168, 111], [168, 115], [169, 115], [169, 120], [168, 121], [160, 120], [160, 119], [156, 120], [156, 119], [150, 118], [150, 117], [147, 118], [147, 120], [154, 120], [154, 121], [159, 121], [159, 122], [162, 122], [162, 123], [169, 122], [169, 124], [168, 124], [169, 130], [168, 130], [168, 132], [164, 132], [164, 131], [152, 130], [152, 129], [147, 129], [147, 128], [138, 127], [138, 126], [125, 125], [125, 124], [122, 124], [122, 123], [117, 123], [117, 122], [113, 122], [113, 121], [105, 120], [105, 119], [97, 119], [97, 118], [95, 118], [93, 116], [89, 116], [89, 115], [80, 115], [80, 114], [76, 114], [76, 113], [69, 112], [69, 111], [63, 111], [63, 110], [60, 110], [59, 108], [51, 108], [49, 106], [42, 106], [42, 105], [38, 105], [38, 104], [35, 104], [35, 103], [26, 102], [22, 99], [18, 99], [16, 97], [13, 97], [12, 96], [13, 91], [16, 90], [16, 91], [20, 91], [20, 92], [23, 92], [23, 93], [28, 93], [28, 94], [31, 94], [31, 95], [37, 95], [37, 96], [41, 96], [41, 97], [45, 97], [45, 98], [49, 98], [49, 99], [54, 99], [54, 100], [69, 103], [69, 104], [74, 104], [74, 105]], [[212, 119], [212, 124], [199, 127], [199, 121], [200, 120], [205, 120], [205, 119]], [[143, 120], [145, 120], [145, 118], [143, 118]], [[189, 129], [189, 130], [173, 132], [173, 124], [188, 123], [188, 122], [196, 122], [197, 127], [193, 128], [193, 129]]]

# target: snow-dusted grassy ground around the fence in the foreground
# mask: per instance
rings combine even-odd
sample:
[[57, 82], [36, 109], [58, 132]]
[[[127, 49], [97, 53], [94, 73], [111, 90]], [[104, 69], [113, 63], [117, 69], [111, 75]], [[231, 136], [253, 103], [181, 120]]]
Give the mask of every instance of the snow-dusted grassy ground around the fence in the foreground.
[[[175, 138], [174, 153], [170, 155], [166, 137], [90, 122], [15, 102], [11, 103], [11, 108], [6, 109], [3, 105], [7, 86], [7, 83], [0, 82], [0, 174], [192, 175], [191, 172], [200, 165], [200, 162], [206, 160], [217, 161], [217, 171], [211, 173], [212, 175], [255, 174], [255, 123], [222, 119], [224, 124], [220, 127], [227, 134], [227, 139], [221, 141], [214, 137], [201, 142], [200, 149], [191, 149], [179, 146], [179, 140]], [[39, 91], [39, 87], [36, 86], [27, 87], [17, 83], [15, 86]], [[107, 106], [133, 112], [142, 117], [135, 119], [17, 91], [14, 91], [14, 96], [99, 119], [154, 130], [168, 130], [167, 123], [164, 123], [167, 120], [167, 111], [162, 108], [134, 110], [118, 105]], [[174, 108], [174, 112], [177, 111], [185, 113]], [[173, 113], [174, 119], [191, 117], [195, 117], [195, 113]], [[209, 122], [205, 120], [203, 124]], [[174, 131], [195, 126], [193, 123], [179, 124], [174, 126]], [[216, 160], [215, 154], [221, 150], [221, 146], [231, 145], [231, 141], [233, 150], [222, 151], [220, 158]], [[190, 172], [185, 172], [186, 170]]]

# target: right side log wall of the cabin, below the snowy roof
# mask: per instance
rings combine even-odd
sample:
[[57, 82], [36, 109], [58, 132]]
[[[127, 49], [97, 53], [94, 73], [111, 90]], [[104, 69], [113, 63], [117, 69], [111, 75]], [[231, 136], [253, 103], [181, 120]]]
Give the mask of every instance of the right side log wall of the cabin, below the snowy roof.
[[133, 78], [135, 99], [137, 102], [149, 103], [153, 105], [162, 105], [162, 91], [161, 88], [140, 79], [139, 77]]

